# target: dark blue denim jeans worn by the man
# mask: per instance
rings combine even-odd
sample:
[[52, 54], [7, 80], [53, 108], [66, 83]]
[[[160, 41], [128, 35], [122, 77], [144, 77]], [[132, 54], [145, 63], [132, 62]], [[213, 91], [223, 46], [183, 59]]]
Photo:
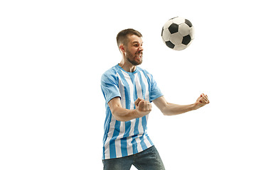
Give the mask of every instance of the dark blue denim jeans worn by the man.
[[164, 164], [154, 146], [128, 157], [105, 159], [102, 162], [104, 170], [129, 170], [132, 165], [139, 170], [164, 170]]

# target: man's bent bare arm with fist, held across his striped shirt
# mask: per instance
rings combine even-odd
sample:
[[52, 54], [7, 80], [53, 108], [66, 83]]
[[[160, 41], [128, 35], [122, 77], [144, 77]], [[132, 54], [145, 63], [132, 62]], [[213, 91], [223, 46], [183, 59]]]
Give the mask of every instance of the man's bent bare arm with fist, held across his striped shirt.
[[119, 121], [128, 121], [134, 118], [141, 118], [144, 115], [149, 114], [152, 109], [151, 103], [149, 103], [149, 101], [144, 101], [142, 98], [137, 98], [134, 104], [136, 107], [135, 109], [129, 110], [122, 108], [120, 98], [115, 97], [110, 100], [108, 106], [110, 106], [110, 111], [112, 112], [114, 118]]

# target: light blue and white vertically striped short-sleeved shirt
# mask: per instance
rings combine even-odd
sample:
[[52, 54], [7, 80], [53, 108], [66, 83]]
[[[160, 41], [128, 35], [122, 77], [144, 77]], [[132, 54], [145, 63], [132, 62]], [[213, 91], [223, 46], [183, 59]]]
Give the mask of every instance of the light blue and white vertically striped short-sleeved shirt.
[[151, 102], [163, 96], [152, 75], [139, 67], [134, 72], [126, 72], [117, 64], [102, 75], [101, 88], [106, 100], [102, 159], [126, 157], [153, 146], [146, 133], [149, 115], [121, 122], [114, 118], [108, 106], [114, 97], [121, 98], [123, 108], [135, 109], [137, 98]]

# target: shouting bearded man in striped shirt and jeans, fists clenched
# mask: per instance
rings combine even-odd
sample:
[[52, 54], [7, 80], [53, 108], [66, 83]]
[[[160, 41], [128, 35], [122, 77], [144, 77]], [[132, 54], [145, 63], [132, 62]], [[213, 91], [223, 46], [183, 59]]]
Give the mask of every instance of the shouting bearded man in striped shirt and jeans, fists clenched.
[[117, 45], [122, 60], [102, 75], [101, 87], [106, 100], [104, 169], [126, 170], [132, 164], [137, 169], [164, 169], [159, 153], [146, 133], [152, 101], [164, 115], [186, 113], [209, 103], [205, 94], [191, 105], [168, 103], [152, 75], [137, 67], [142, 64], [142, 44], [139, 31], [120, 31]]

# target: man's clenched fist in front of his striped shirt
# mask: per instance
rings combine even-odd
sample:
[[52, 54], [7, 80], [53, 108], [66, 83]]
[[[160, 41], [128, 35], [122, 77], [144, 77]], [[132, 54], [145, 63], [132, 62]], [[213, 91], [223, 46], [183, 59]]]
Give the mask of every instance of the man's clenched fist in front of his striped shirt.
[[142, 98], [137, 98], [137, 100], [134, 101], [134, 104], [135, 104], [135, 107], [136, 107], [136, 111], [139, 114], [147, 115], [152, 110], [151, 103], [149, 103], [149, 101], [145, 101]]

